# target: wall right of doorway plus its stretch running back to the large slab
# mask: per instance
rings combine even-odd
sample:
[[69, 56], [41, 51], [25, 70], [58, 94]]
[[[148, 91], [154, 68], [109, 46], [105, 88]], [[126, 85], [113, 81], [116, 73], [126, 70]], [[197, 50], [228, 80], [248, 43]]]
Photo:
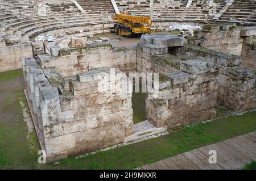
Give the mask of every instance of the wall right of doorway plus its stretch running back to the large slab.
[[167, 54], [183, 44], [174, 35], [141, 37], [137, 71], [160, 73], [159, 91], [147, 92], [146, 98], [147, 120], [155, 127], [171, 129], [216, 116], [218, 69], [209, 61]]

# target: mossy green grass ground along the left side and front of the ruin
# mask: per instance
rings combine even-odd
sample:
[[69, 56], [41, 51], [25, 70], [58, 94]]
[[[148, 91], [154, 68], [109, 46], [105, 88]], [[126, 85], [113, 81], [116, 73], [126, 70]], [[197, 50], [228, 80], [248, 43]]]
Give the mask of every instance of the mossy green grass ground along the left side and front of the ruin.
[[[219, 119], [205, 124], [176, 128], [166, 136], [81, 158], [69, 157], [58, 164], [39, 165], [39, 155], [36, 154], [39, 150], [38, 141], [35, 132], [28, 133], [19, 104], [20, 98], [26, 103], [23, 83], [18, 85], [22, 79], [20, 75], [8, 83], [0, 83], [0, 95], [7, 94], [4, 99], [0, 99], [0, 169], [134, 169], [256, 130], [256, 112], [247, 112], [241, 116], [220, 115]], [[138, 103], [140, 99], [142, 96], [136, 99]], [[225, 108], [217, 107], [217, 112], [226, 111]]]

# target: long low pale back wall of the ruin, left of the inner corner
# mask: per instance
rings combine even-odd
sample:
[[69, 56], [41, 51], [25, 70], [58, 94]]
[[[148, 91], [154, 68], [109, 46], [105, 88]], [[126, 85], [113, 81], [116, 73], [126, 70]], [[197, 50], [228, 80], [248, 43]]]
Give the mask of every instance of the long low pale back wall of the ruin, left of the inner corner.
[[39, 55], [42, 68], [56, 67], [66, 76], [100, 67], [117, 68], [123, 72], [136, 71], [137, 47], [112, 48], [111, 44], [79, 48], [51, 47], [52, 54]]

